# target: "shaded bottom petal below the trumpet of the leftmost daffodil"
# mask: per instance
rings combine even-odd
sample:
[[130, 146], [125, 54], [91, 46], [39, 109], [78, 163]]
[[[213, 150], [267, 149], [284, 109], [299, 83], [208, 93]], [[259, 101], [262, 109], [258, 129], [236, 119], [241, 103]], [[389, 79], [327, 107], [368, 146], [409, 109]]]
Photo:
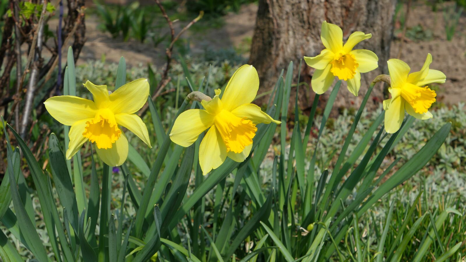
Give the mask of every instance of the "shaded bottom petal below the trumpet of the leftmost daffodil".
[[124, 133], [112, 144], [112, 148], [100, 149], [96, 147], [97, 155], [110, 167], [121, 166], [128, 157], [128, 140]]

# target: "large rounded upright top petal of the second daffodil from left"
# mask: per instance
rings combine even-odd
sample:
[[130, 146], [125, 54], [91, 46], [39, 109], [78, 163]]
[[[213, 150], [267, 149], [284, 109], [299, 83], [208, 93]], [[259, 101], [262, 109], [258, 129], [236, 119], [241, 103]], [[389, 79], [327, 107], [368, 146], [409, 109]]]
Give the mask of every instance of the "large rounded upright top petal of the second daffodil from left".
[[223, 107], [232, 111], [242, 104], [251, 103], [259, 90], [259, 75], [256, 68], [244, 65], [234, 72], [222, 96]]

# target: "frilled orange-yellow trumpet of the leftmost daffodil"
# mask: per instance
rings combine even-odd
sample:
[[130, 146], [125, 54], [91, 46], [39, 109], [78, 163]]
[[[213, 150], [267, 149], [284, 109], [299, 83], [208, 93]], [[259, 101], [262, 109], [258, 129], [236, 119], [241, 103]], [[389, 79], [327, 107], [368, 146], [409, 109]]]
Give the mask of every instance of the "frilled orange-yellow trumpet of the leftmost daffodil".
[[118, 138], [120, 138], [121, 130], [118, 128], [115, 115], [107, 108], [99, 109], [96, 116], [86, 122], [84, 137], [89, 138], [89, 141], [96, 143], [97, 148], [108, 149], [112, 148]]

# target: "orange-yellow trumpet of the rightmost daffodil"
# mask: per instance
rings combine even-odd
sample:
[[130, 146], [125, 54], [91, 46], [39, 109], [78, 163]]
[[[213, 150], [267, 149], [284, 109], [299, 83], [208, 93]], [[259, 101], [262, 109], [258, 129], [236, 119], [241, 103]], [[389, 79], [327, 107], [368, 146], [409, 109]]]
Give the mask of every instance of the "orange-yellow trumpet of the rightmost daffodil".
[[401, 88], [401, 96], [414, 108], [414, 112], [424, 114], [435, 102], [437, 94], [427, 86], [418, 87], [405, 83]]

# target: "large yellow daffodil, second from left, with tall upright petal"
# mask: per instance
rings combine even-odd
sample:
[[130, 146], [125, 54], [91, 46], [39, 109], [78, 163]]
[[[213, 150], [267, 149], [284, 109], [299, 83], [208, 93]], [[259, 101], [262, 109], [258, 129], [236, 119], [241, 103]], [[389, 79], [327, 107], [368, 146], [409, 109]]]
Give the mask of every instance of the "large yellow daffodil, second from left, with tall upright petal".
[[199, 164], [204, 175], [218, 168], [227, 156], [244, 161], [251, 152], [257, 124], [281, 123], [251, 104], [258, 89], [256, 69], [244, 65], [228, 81], [221, 99], [217, 89], [212, 100], [201, 101], [205, 110], [186, 110], [175, 120], [170, 138], [183, 147], [192, 145], [199, 134], [209, 129], [199, 147]]

